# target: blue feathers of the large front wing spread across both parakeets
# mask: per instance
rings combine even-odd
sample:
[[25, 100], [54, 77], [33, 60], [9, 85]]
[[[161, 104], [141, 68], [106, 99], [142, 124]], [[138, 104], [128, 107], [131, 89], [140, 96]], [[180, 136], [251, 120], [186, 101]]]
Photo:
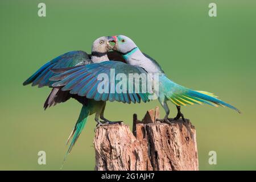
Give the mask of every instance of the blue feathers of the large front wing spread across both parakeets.
[[[110, 84], [111, 80], [106, 80], [105, 85], [107, 90], [106, 93], [99, 93], [98, 86], [103, 81], [98, 79], [98, 76], [101, 73], [105, 73], [108, 78], [112, 74], [114, 70], [114, 76], [118, 73], [124, 73], [126, 76], [129, 73], [146, 73], [141, 68], [134, 67], [133, 65], [117, 62], [117, 61], [105, 61], [98, 64], [88, 64], [81, 66], [80, 68], [68, 69], [66, 72], [61, 73], [58, 76], [51, 78], [52, 80], [58, 80], [52, 86], [63, 86], [62, 90], [69, 90], [71, 94], [77, 94], [78, 96], [94, 99], [96, 101], [118, 101], [123, 103], [136, 103], [136, 102], [147, 102], [149, 101], [148, 96], [150, 93], [129, 93], [128, 87], [125, 92], [119, 93], [115, 92], [110, 93]], [[55, 69], [58, 72], [58, 69]], [[115, 84], [117, 84], [117, 80], [115, 80]], [[134, 83], [133, 83], [134, 84]], [[140, 84], [142, 84], [140, 82]], [[133, 85], [135, 86], [135, 85]], [[139, 86], [141, 88], [141, 85]], [[117, 88], [115, 88], [117, 89]]]

